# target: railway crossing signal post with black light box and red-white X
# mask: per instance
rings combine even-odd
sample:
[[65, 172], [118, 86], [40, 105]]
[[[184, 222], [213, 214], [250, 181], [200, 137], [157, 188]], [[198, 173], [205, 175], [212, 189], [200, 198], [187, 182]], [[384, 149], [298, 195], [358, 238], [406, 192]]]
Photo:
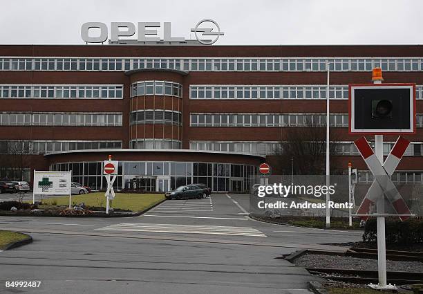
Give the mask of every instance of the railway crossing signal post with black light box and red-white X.
[[[375, 152], [366, 137], [355, 140], [368, 169], [375, 180], [362, 201], [356, 216], [367, 219], [377, 217], [377, 269], [379, 284], [369, 286], [377, 289], [393, 289], [386, 284], [385, 217], [397, 215], [401, 220], [412, 214], [391, 180], [409, 141], [399, 137], [391, 153], [384, 161], [384, 135], [415, 134], [415, 84], [383, 84], [382, 70], [373, 68], [374, 84], [349, 85], [349, 134], [375, 135]], [[386, 199], [395, 210], [387, 214]], [[376, 205], [376, 212], [373, 208]]]

